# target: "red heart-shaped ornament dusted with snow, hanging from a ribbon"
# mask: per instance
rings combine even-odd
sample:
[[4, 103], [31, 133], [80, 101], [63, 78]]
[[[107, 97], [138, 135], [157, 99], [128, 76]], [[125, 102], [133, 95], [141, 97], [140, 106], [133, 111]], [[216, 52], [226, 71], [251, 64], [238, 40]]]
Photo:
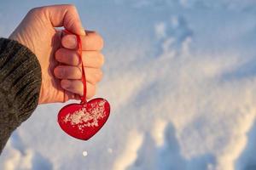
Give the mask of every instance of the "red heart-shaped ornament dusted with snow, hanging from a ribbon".
[[109, 112], [108, 101], [96, 98], [84, 104], [66, 105], [58, 114], [58, 122], [67, 134], [88, 140], [107, 122]]

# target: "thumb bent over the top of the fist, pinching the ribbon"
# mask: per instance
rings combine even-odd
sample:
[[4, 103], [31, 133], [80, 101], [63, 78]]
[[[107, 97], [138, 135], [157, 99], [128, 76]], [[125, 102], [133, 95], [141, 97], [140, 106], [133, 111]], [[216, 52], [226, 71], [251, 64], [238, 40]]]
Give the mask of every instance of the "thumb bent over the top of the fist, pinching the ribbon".
[[33, 8], [31, 13], [43, 13], [53, 27], [64, 26], [68, 31], [81, 36], [85, 35], [77, 8], [72, 4]]

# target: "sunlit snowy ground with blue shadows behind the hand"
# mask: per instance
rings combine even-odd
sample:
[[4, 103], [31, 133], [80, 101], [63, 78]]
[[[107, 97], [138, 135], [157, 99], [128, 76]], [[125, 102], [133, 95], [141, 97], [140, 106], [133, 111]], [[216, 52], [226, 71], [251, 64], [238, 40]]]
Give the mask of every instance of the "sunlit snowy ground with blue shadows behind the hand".
[[54, 3], [75, 3], [84, 26], [102, 33], [97, 96], [112, 112], [84, 142], [58, 127], [61, 104], [38, 106], [0, 169], [256, 169], [254, 0], [17, 2], [1, 3], [0, 36], [29, 8]]

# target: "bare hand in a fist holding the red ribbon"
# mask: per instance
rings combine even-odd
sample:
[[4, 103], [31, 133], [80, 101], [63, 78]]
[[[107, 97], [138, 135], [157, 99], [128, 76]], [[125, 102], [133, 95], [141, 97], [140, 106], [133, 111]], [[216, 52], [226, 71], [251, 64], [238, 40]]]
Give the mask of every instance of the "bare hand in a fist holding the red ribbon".
[[94, 31], [86, 31], [85, 35], [76, 8], [73, 5], [33, 8], [9, 38], [30, 48], [38, 58], [42, 70], [39, 104], [79, 99], [83, 94], [76, 37], [55, 29], [61, 26], [81, 37], [88, 99], [96, 93], [96, 83], [102, 79], [102, 37]]

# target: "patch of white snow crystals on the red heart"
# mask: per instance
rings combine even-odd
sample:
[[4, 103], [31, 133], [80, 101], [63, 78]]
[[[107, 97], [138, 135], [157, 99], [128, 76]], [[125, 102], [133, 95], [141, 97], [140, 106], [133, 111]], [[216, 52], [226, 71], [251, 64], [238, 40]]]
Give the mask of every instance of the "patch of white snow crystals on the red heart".
[[79, 111], [68, 113], [64, 117], [64, 122], [70, 122], [73, 126], [78, 126], [79, 130], [83, 131], [84, 127], [98, 127], [98, 120], [106, 116], [104, 105], [106, 100], [99, 101], [97, 103], [90, 104], [90, 109], [86, 108], [86, 105]]

